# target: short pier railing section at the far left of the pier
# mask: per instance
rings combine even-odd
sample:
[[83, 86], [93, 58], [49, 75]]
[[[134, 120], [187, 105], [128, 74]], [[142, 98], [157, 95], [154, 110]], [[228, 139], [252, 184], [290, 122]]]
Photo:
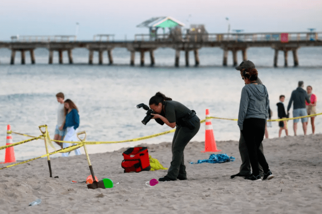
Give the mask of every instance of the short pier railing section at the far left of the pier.
[[54, 35], [54, 36], [40, 36], [40, 35], [29, 35], [29, 36], [12, 36], [12, 42], [70, 42], [76, 41], [77, 36], [74, 35]]

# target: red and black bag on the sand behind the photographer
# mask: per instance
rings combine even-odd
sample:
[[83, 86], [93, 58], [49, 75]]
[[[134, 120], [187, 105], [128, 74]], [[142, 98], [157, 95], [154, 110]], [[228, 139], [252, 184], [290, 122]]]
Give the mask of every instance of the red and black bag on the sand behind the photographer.
[[123, 154], [122, 168], [125, 172], [149, 171], [150, 161], [147, 147], [134, 147], [126, 150]]

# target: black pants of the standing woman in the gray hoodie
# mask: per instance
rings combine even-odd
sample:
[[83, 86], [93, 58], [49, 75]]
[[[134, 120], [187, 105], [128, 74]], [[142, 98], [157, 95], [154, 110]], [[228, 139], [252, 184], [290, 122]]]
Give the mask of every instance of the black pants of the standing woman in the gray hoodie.
[[244, 120], [243, 131], [248, 154], [253, 169], [253, 175], [259, 175], [260, 164], [263, 167], [264, 173], [269, 171], [263, 152], [260, 150], [260, 145], [265, 135], [265, 119], [248, 118]]

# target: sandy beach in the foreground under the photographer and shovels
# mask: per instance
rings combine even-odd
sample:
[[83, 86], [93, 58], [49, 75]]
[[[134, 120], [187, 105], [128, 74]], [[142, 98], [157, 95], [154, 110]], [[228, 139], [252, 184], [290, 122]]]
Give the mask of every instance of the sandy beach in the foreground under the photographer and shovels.
[[[230, 179], [241, 163], [238, 142], [216, 143], [220, 153], [235, 161], [189, 164], [213, 154], [201, 153], [204, 142], [192, 141], [185, 149], [188, 180], [151, 187], [145, 182], [165, 176], [167, 170], [124, 173], [126, 148], [90, 155], [98, 179], [114, 182], [109, 189], [71, 183], [90, 175], [85, 155], [52, 158], [53, 176], [59, 178], [49, 177], [47, 159], [4, 169], [0, 213], [319, 213], [322, 209], [322, 134], [264, 139], [264, 154], [275, 178], [261, 182]], [[164, 167], [170, 166], [170, 142], [142, 146]], [[42, 202], [29, 206], [37, 198]]]

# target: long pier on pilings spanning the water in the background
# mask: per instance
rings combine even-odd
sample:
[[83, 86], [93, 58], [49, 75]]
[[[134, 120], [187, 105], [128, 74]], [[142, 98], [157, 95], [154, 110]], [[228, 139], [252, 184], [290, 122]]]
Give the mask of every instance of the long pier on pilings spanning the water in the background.
[[[97, 39], [98, 38], [98, 39]], [[151, 66], [155, 64], [154, 50], [157, 48], [172, 48], [176, 50], [174, 64], [179, 66], [180, 51], [185, 52], [185, 65], [189, 66], [189, 52], [194, 54], [195, 66], [200, 64], [199, 49], [202, 47], [221, 48], [223, 50], [222, 65], [227, 66], [228, 51], [232, 52], [233, 66], [238, 64], [237, 51], [241, 51], [243, 60], [247, 60], [247, 49], [252, 47], [273, 48], [273, 66], [277, 67], [279, 51], [284, 53], [284, 66], [288, 66], [288, 52], [292, 51], [294, 66], [299, 65], [297, 49], [300, 47], [322, 46], [322, 32], [293, 33], [232, 33], [232, 34], [136, 34], [132, 41], [115, 41], [113, 34], [95, 35], [93, 41], [77, 41], [75, 36], [20, 36], [12, 37], [11, 42], [0, 41], [0, 48], [11, 50], [11, 64], [15, 64], [16, 52], [21, 52], [21, 64], [25, 64], [25, 52], [30, 52], [31, 63], [35, 64], [34, 50], [47, 48], [48, 63], [53, 63], [53, 52], [59, 54], [59, 63], [63, 63], [62, 53], [67, 51], [68, 63], [73, 63], [72, 50], [87, 48], [89, 64], [93, 64], [94, 52], [99, 54], [99, 64], [103, 64], [103, 52], [108, 53], [108, 64], [113, 64], [114, 48], [126, 48], [130, 53], [130, 65], [134, 65], [135, 53], [140, 54], [140, 65], [144, 66], [144, 53], [149, 52]], [[0, 59], [1, 63], [1, 59]]]

